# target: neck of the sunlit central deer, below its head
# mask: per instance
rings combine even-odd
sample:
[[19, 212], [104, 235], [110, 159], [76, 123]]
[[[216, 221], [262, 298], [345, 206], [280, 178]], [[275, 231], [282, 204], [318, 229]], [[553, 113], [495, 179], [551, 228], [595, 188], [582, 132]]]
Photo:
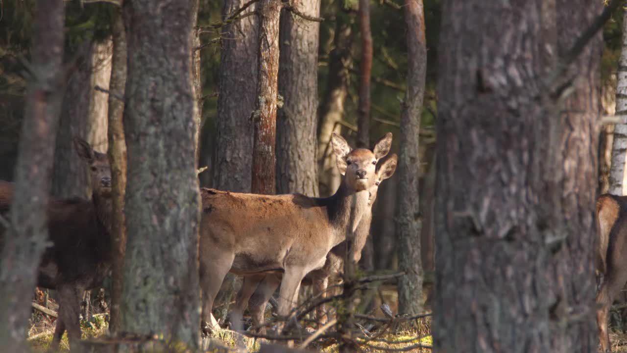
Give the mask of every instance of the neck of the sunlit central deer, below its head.
[[368, 198], [368, 190], [357, 192], [344, 182], [340, 184], [337, 192], [330, 197], [329, 220], [334, 233], [333, 246], [344, 241], [347, 232], [356, 231], [357, 225], [369, 207]]

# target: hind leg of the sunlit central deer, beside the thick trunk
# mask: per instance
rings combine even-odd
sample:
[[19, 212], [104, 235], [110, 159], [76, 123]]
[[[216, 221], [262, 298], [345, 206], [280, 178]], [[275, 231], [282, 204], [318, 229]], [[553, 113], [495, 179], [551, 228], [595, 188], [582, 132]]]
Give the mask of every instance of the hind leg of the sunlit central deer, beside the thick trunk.
[[219, 330], [218, 320], [213, 317], [213, 301], [220, 290], [224, 276], [231, 269], [235, 255], [229, 251], [213, 251], [209, 256], [200, 256], [200, 285], [203, 291], [203, 334], [208, 335], [211, 330]]

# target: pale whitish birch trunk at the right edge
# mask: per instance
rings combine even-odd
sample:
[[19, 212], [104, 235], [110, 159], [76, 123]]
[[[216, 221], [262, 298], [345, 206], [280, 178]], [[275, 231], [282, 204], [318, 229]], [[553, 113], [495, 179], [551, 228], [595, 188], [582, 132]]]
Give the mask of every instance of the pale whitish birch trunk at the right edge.
[[618, 85], [616, 86], [616, 113], [621, 119], [614, 126], [612, 162], [609, 168], [609, 193], [624, 195], [625, 154], [627, 153], [627, 11], [623, 15], [623, 47], [618, 59]]

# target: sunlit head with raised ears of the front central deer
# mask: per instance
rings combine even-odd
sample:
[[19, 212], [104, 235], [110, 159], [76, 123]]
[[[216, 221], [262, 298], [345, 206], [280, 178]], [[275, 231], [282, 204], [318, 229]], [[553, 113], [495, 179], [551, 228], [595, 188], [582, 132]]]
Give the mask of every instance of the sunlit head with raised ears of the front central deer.
[[366, 190], [374, 183], [377, 162], [387, 155], [392, 144], [392, 133], [387, 133], [371, 150], [350, 149], [342, 136], [333, 133], [331, 147], [337, 156], [337, 168], [344, 175], [344, 183], [355, 191]]

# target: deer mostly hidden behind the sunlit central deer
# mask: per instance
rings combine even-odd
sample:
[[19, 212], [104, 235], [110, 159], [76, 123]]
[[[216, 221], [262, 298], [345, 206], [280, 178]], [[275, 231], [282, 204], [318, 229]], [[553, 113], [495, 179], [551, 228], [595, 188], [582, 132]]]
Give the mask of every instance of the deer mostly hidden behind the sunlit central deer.
[[[364, 249], [364, 246], [366, 246], [366, 240], [370, 233], [370, 223], [372, 220], [372, 204], [374, 204], [374, 201], [377, 198], [379, 185], [381, 182], [383, 182], [383, 180], [386, 180], [390, 176], [394, 175], [394, 171], [396, 171], [397, 160], [398, 158], [396, 154], [394, 154], [387, 158], [386, 161], [381, 163], [379, 170], [377, 170], [376, 172], [376, 181], [368, 189], [368, 207], [366, 208], [366, 210], [364, 210], [364, 214], [362, 215], [361, 221], [357, 225], [354, 234], [355, 262], [361, 259], [361, 252]], [[326, 296], [329, 278], [331, 274], [340, 271], [342, 261], [346, 258], [346, 252], [347, 248], [345, 241], [340, 242], [340, 244], [333, 247], [329, 254], [327, 254], [327, 261], [325, 262], [324, 266], [320, 269], [315, 269], [314, 271], [308, 273], [305, 278], [303, 278], [301, 285], [314, 285], [314, 288], [316, 289], [317, 293], [319, 293], [320, 297], [324, 298]], [[261, 278], [258, 278], [257, 276], [261, 276]], [[260, 284], [258, 286], [254, 286], [255, 283]], [[239, 317], [241, 317], [246, 308], [246, 305], [249, 305], [249, 312], [251, 318], [253, 319], [253, 324], [256, 326], [260, 326], [264, 321], [263, 319], [266, 304], [268, 303], [268, 301], [270, 301], [270, 297], [275, 292], [275, 290], [277, 290], [280, 283], [280, 273], [255, 274], [253, 276], [245, 276], [240, 291], [236, 296], [235, 306], [231, 311], [231, 315], [238, 315]], [[324, 305], [319, 305], [319, 307], [317, 307], [316, 309], [318, 322], [324, 323], [326, 321]], [[263, 327], [261, 327], [261, 332], [265, 332]]]

